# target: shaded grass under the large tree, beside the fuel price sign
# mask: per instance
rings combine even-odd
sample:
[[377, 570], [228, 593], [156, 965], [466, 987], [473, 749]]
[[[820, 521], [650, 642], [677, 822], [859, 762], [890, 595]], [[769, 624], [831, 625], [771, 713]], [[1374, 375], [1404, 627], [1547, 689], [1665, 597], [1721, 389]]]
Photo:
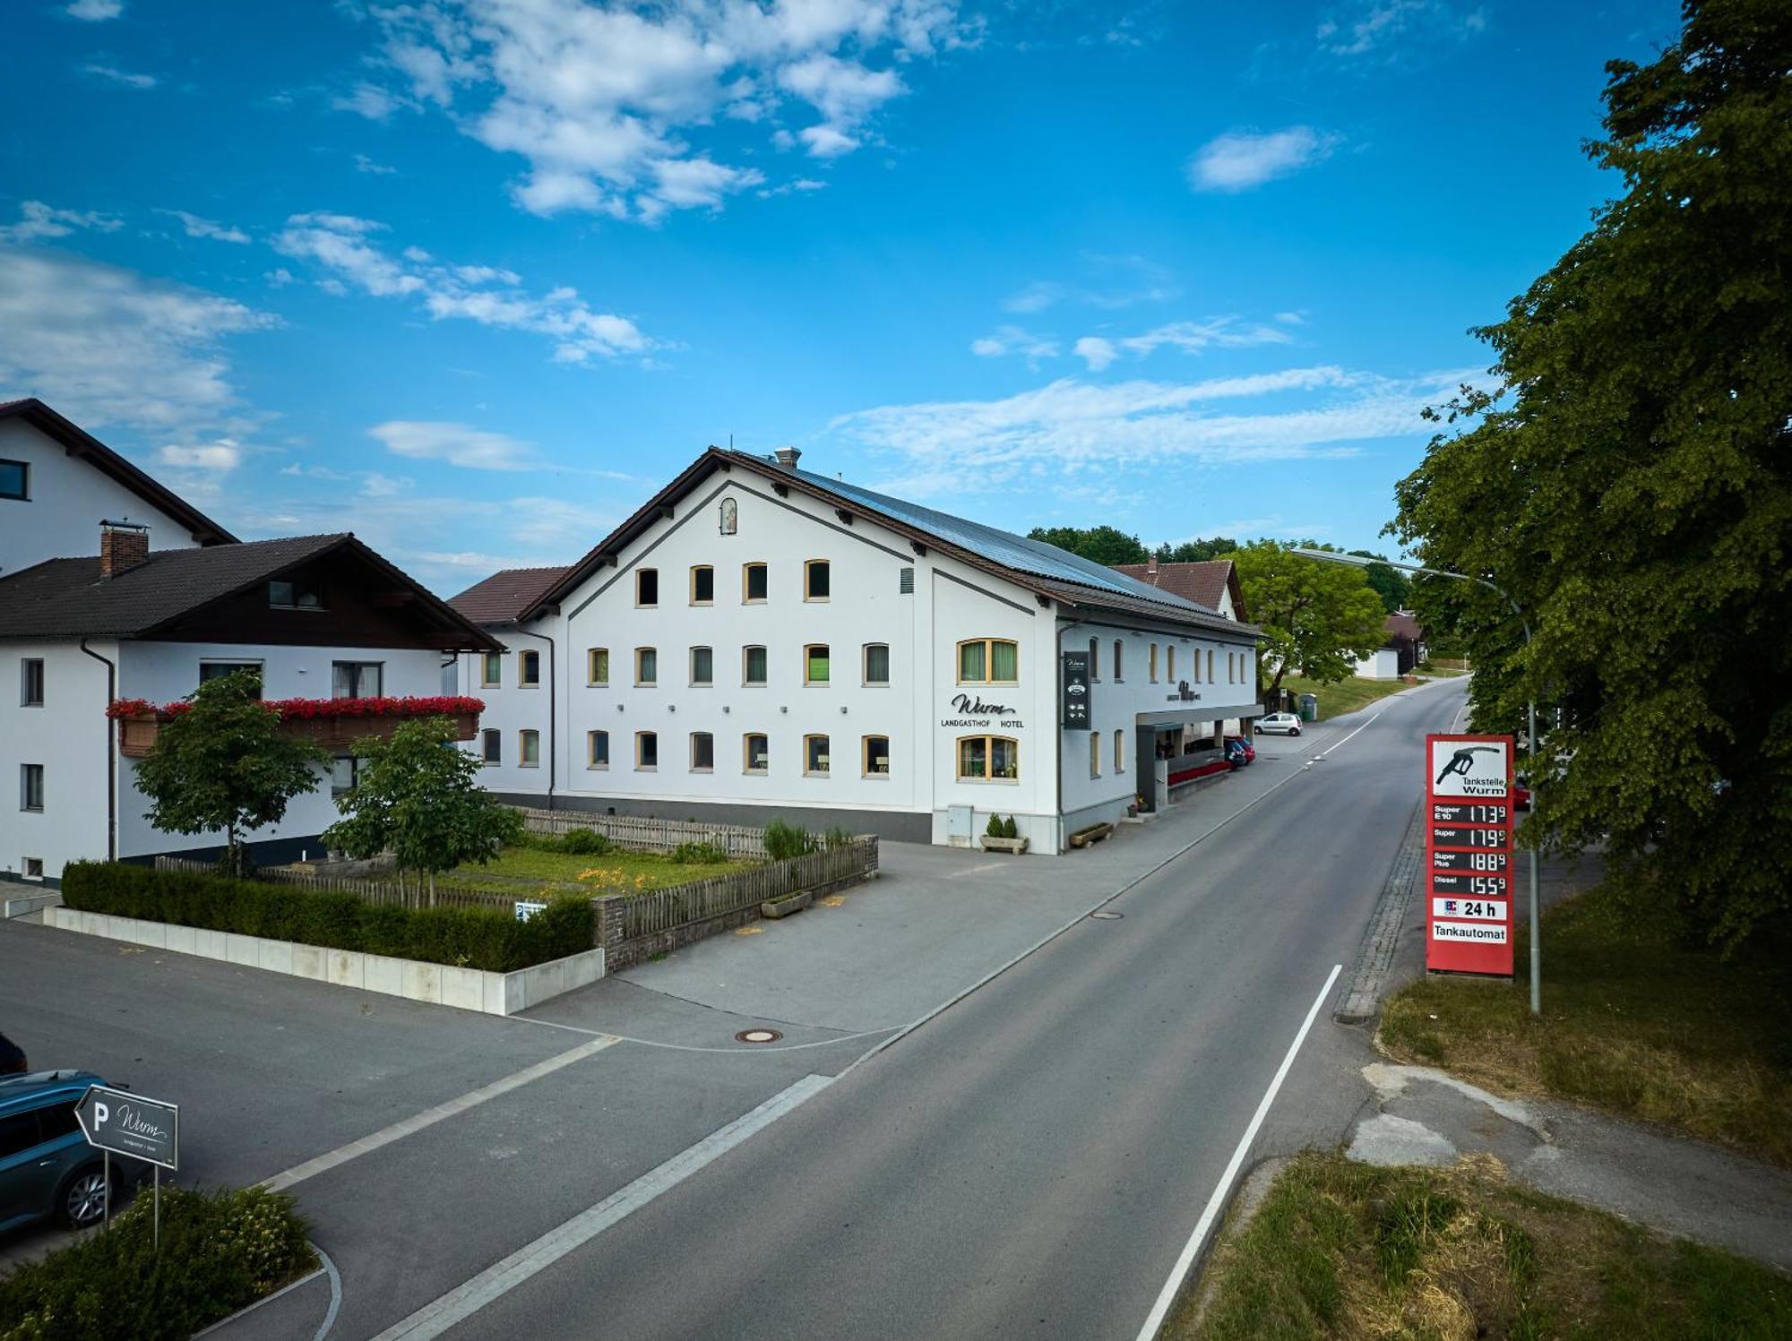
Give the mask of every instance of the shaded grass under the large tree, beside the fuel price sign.
[[1679, 1128], [1792, 1167], [1792, 965], [1724, 963], [1609, 882], [1543, 914], [1543, 1017], [1529, 934], [1511, 984], [1414, 982], [1382, 1013], [1400, 1060], [1502, 1094], [1548, 1094]]

